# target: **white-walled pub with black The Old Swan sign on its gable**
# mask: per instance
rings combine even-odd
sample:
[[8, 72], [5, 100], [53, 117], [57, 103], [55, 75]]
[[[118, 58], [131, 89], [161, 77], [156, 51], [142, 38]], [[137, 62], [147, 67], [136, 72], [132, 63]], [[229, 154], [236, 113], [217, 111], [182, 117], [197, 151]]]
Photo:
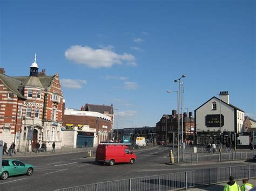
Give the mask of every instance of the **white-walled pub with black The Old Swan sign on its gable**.
[[220, 91], [194, 110], [197, 144], [229, 143], [242, 131], [244, 111], [230, 104], [228, 91]]

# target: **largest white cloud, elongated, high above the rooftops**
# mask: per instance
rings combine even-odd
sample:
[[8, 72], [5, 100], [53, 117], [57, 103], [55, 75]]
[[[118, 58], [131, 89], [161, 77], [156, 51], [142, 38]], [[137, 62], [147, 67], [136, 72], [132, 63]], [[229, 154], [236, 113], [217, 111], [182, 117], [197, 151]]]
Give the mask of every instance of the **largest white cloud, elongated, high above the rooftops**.
[[123, 62], [134, 62], [132, 54], [117, 54], [109, 49], [93, 49], [89, 46], [75, 45], [65, 51], [66, 59], [90, 68], [111, 67]]

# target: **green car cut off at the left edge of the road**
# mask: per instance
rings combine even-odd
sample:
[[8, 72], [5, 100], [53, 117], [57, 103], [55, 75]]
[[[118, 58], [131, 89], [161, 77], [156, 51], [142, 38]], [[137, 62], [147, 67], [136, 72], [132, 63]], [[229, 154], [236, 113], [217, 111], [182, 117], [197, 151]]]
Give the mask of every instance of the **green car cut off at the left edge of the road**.
[[6, 180], [8, 176], [15, 176], [20, 174], [32, 175], [34, 166], [25, 164], [16, 159], [3, 159], [2, 170], [0, 171], [0, 178]]

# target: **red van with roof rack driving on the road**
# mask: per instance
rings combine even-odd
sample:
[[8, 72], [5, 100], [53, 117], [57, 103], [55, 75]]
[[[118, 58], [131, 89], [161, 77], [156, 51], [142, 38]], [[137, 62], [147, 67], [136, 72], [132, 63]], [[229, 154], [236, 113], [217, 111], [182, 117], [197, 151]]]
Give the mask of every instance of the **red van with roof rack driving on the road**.
[[127, 162], [133, 164], [136, 155], [130, 151], [129, 147], [122, 144], [100, 144], [96, 150], [95, 161], [107, 163], [113, 166], [115, 163]]

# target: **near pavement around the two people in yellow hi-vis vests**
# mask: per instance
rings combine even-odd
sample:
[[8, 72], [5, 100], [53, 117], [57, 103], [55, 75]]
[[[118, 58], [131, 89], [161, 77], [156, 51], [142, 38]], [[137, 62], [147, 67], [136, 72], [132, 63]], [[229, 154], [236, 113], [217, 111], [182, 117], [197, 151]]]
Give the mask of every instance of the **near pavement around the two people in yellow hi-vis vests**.
[[[254, 178], [250, 179], [249, 183], [256, 186], [256, 179], [254, 179]], [[238, 180], [237, 184], [239, 186], [241, 186], [242, 185], [242, 180]], [[186, 190], [193, 190], [193, 191], [198, 191], [198, 190], [211, 190], [211, 191], [223, 190], [225, 185], [226, 185], [226, 182], [223, 182], [223, 183], [218, 183], [218, 184], [215, 184], [215, 185], [202, 186], [200, 188], [188, 188]]]

